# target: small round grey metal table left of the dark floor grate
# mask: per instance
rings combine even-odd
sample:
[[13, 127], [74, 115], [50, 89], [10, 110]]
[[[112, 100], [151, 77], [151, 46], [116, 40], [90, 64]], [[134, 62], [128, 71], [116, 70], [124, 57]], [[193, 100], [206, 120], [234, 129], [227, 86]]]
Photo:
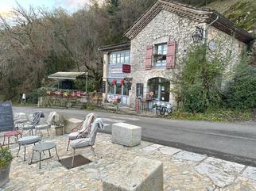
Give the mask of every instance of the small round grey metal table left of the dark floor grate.
[[[46, 159], [51, 159], [52, 158], [52, 155], [51, 155], [51, 149], [52, 148], [55, 148], [55, 151], [56, 151], [56, 156], [58, 158], [58, 160], [60, 161], [60, 158], [59, 158], [59, 155], [58, 155], [58, 152], [57, 152], [57, 148], [56, 148], [56, 143], [52, 143], [52, 142], [43, 142], [43, 143], [38, 143], [36, 144], [35, 146], [33, 146], [32, 148], [32, 151], [38, 151], [39, 152], [39, 161], [36, 161], [36, 162], [39, 162], [39, 169], [41, 169], [41, 154], [42, 152], [44, 151], [47, 151], [48, 150], [48, 154], [49, 154], [49, 157], [46, 158]], [[31, 158], [31, 162], [30, 164], [34, 163], [33, 162], [33, 152], [32, 152], [32, 158]], [[43, 160], [46, 160], [46, 159], [43, 159]]]

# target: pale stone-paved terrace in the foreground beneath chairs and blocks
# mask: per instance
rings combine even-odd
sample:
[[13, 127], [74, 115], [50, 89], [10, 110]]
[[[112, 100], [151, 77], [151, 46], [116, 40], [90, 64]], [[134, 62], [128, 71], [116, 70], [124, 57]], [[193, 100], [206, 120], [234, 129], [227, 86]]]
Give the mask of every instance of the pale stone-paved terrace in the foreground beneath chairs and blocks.
[[[53, 133], [52, 133], [53, 134]], [[2, 141], [2, 139], [1, 139]], [[72, 155], [66, 151], [67, 136], [51, 136], [44, 134], [43, 141], [57, 144], [60, 159]], [[10, 146], [14, 155], [17, 144]], [[234, 162], [214, 159], [188, 151], [180, 151], [173, 147], [142, 141], [137, 147], [122, 147], [111, 143], [111, 135], [98, 133], [95, 151], [98, 162], [67, 170], [57, 162], [56, 156], [42, 162], [28, 165], [31, 159], [32, 146], [27, 147], [27, 161], [23, 162], [23, 150], [20, 156], [14, 157], [10, 169], [10, 181], [2, 190], [102, 190], [102, 178], [114, 173], [119, 166], [129, 165], [135, 156], [156, 159], [164, 162], [164, 189], [166, 191], [183, 190], [256, 190], [256, 168], [243, 166]], [[80, 148], [81, 154], [92, 161], [95, 157], [89, 148]], [[52, 155], [55, 152], [52, 151]], [[48, 153], [45, 153], [45, 157]], [[37, 156], [38, 157], [38, 156]]]

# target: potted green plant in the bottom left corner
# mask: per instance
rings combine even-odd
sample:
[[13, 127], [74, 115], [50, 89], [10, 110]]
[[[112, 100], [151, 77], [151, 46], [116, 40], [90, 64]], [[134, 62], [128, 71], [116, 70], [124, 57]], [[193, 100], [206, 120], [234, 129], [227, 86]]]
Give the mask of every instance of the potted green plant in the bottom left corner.
[[7, 147], [0, 147], [0, 187], [5, 185], [9, 180], [10, 162], [13, 156]]

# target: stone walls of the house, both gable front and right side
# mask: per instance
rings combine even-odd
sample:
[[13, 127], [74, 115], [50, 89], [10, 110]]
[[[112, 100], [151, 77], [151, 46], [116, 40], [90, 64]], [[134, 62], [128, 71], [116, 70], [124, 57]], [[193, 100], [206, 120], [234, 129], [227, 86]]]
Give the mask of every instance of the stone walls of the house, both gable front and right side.
[[[160, 77], [169, 80], [175, 78], [175, 74], [178, 74], [184, 66], [182, 60], [188, 48], [193, 43], [192, 33], [195, 31], [196, 25], [203, 28], [206, 26], [206, 24], [192, 21], [186, 17], [180, 17], [166, 10], [161, 10], [161, 12], [131, 40], [130, 63], [132, 67], [131, 76], [133, 78], [132, 90], [130, 92], [131, 104], [135, 102], [136, 98], [136, 83], [144, 84], [143, 92], [144, 96], [146, 96], [146, 94], [149, 94], [147, 82], [150, 78]], [[176, 67], [174, 69], [145, 70], [146, 46], [166, 43], [169, 40], [176, 41]], [[209, 27], [208, 29], [208, 41], [209, 40], [215, 40], [217, 49], [221, 54], [227, 55], [227, 52], [231, 52], [230, 64], [227, 67], [228, 71], [230, 71], [236, 60], [239, 59], [240, 52], [242, 48], [245, 48], [245, 44], [235, 39], [234, 36], [227, 35], [227, 33], [221, 32], [213, 27]], [[214, 52], [211, 53], [215, 54]], [[172, 82], [170, 86], [171, 92], [169, 100], [171, 103], [175, 104], [172, 94]]]

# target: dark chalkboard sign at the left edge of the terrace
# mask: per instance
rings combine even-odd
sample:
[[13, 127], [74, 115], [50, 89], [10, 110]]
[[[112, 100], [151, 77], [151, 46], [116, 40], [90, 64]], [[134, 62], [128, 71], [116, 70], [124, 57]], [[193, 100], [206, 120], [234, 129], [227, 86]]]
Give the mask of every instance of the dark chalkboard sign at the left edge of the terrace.
[[0, 132], [14, 130], [14, 118], [12, 103], [10, 101], [0, 101]]

